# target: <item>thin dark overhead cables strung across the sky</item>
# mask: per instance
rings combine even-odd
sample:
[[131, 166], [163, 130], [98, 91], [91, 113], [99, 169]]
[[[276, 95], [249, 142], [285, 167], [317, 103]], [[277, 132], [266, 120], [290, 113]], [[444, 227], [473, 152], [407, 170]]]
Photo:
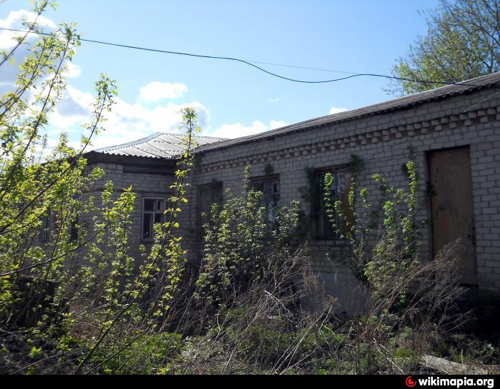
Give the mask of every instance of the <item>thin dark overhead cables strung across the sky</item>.
[[[4, 31], [14, 31], [14, 32], [31, 32], [31, 34], [39, 34], [39, 35], [46, 35], [50, 36], [51, 34], [47, 34], [44, 32], [33, 32], [33, 31], [26, 31], [26, 30], [18, 30], [18, 29], [6, 29], [4, 27], [0, 27], [0, 30]], [[246, 64], [249, 66], [252, 66], [260, 71], [263, 71], [266, 74], [269, 74], [274, 77], [278, 77], [279, 79], [284, 79], [286, 81], [292, 81], [292, 82], [298, 82], [302, 84], [326, 84], [326, 83], [332, 83], [336, 81], [343, 81], [347, 79], [354, 79], [356, 77], [379, 77], [379, 78], [384, 78], [384, 79], [394, 79], [394, 80], [399, 80], [399, 81], [409, 81], [409, 82], [416, 82], [419, 84], [439, 84], [439, 85], [460, 85], [460, 86], [476, 86], [474, 84], [465, 84], [463, 82], [451, 82], [451, 81], [435, 81], [435, 80], [419, 80], [419, 79], [405, 79], [403, 77], [396, 77], [396, 76], [387, 76], [386, 74], [374, 74], [374, 73], [352, 73], [351, 72], [344, 72], [344, 71], [336, 71], [338, 73], [346, 73], [346, 74], [351, 74], [350, 76], [345, 76], [345, 77], [340, 77], [338, 79], [329, 79], [329, 80], [319, 80], [319, 81], [308, 81], [308, 80], [299, 80], [299, 79], [291, 79], [289, 77], [281, 76], [280, 74], [273, 73], [272, 71], [268, 71], [266, 69], [261, 68], [260, 66], [257, 66], [255, 64], [268, 64], [268, 65], [274, 65], [274, 66], [288, 66], [288, 67], [294, 67], [294, 68], [301, 68], [301, 69], [310, 69], [310, 70], [323, 70], [326, 71], [326, 69], [314, 69], [314, 68], [306, 68], [304, 66], [292, 66], [292, 65], [284, 65], [284, 64], [271, 64], [269, 62], [258, 62], [258, 61], [247, 61], [244, 59], [239, 59], [239, 58], [233, 58], [229, 56], [209, 56], [206, 54], [194, 54], [194, 53], [185, 53], [182, 51], [169, 51], [169, 50], [161, 50], [161, 49], [151, 49], [147, 47], [141, 47], [141, 46], [131, 46], [127, 44], [115, 44], [112, 42], [106, 42], [106, 41], [96, 41], [94, 39], [79, 39], [82, 42], [89, 42], [93, 44], [104, 44], [107, 46], [116, 46], [116, 47], [122, 47], [125, 49], [134, 49], [134, 50], [141, 50], [141, 51], [151, 51], [154, 53], [161, 53], [161, 54], [173, 54], [173, 55], [178, 55], [178, 56], [191, 56], [191, 57], [196, 57], [196, 58], [204, 58], [204, 59], [221, 59], [225, 61], [236, 61], [240, 62], [241, 64]]]

